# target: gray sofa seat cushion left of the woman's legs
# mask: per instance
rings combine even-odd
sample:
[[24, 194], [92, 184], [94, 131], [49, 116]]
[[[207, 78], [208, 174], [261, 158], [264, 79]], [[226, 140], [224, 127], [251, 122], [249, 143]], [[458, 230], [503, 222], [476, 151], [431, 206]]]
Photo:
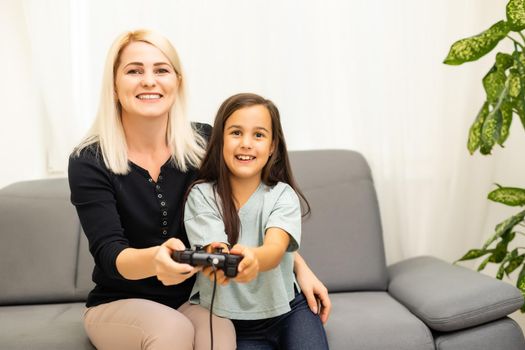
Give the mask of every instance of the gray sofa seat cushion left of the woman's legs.
[[0, 349], [94, 350], [83, 330], [83, 310], [83, 303], [0, 307], [0, 320], [6, 320]]

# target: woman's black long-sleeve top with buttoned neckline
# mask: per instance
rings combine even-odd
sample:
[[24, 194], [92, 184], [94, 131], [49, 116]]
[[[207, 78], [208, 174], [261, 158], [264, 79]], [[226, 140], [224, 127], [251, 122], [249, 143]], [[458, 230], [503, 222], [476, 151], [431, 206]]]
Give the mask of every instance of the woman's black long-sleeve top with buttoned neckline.
[[[206, 138], [211, 127], [195, 124]], [[166, 162], [155, 182], [147, 170], [130, 162], [131, 171], [116, 175], [105, 165], [98, 144], [69, 160], [71, 202], [89, 241], [95, 260], [93, 281], [86, 306], [127, 298], [144, 298], [173, 308], [188, 300], [194, 278], [164, 286], [156, 277], [127, 280], [117, 270], [118, 254], [128, 248], [148, 248], [168, 238], [188, 246], [182, 212], [184, 196], [197, 171], [181, 172]]]

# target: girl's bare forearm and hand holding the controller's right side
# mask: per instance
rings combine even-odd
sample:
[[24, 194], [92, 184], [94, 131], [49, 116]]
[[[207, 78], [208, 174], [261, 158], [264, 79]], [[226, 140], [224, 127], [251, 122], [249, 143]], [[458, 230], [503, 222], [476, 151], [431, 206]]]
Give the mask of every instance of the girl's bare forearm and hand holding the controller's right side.
[[290, 243], [288, 233], [278, 227], [270, 227], [264, 235], [263, 245], [252, 248], [236, 244], [230, 251], [232, 254], [242, 254], [244, 258], [239, 264], [237, 282], [249, 282], [259, 272], [275, 268], [281, 262]]

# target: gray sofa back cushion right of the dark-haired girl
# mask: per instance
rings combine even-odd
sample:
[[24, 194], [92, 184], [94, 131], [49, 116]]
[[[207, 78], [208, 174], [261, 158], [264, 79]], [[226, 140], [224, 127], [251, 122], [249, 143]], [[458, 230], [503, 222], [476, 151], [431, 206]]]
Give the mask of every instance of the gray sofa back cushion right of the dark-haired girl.
[[343, 150], [290, 152], [312, 213], [300, 253], [330, 292], [386, 290], [387, 271], [376, 192], [365, 159]]

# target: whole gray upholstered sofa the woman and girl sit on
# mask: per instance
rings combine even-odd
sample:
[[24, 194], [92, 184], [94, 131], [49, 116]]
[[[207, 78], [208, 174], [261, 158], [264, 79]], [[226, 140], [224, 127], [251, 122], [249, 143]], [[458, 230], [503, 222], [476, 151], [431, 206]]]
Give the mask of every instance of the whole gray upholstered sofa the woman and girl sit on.
[[[523, 303], [510, 284], [432, 257], [386, 266], [361, 155], [291, 156], [312, 206], [301, 252], [333, 302], [331, 349], [525, 349], [506, 317]], [[92, 259], [66, 179], [0, 190], [0, 235], [0, 349], [93, 349], [81, 322]]]

